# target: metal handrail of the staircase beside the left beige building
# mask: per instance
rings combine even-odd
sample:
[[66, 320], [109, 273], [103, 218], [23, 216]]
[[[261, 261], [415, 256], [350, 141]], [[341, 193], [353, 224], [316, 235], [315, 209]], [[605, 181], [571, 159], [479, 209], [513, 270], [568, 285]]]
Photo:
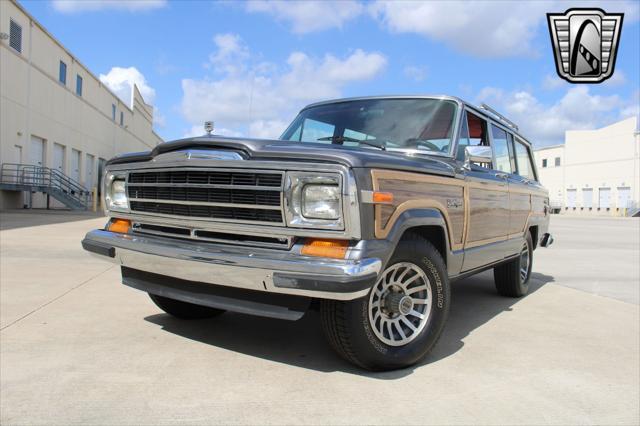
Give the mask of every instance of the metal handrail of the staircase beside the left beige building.
[[48, 187], [88, 205], [91, 192], [79, 182], [56, 169], [33, 164], [3, 163], [0, 165], [0, 183]]

